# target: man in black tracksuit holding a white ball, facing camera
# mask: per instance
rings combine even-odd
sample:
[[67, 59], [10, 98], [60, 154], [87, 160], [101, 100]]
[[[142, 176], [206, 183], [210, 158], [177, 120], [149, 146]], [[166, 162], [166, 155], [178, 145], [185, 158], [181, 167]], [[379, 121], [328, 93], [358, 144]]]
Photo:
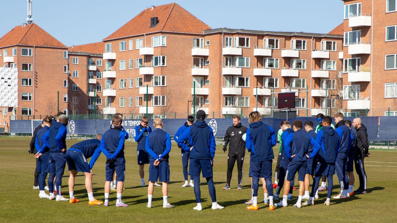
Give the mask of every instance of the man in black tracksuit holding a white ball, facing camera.
[[224, 190], [230, 190], [231, 175], [233, 172], [234, 163], [237, 161], [237, 190], [241, 190], [241, 181], [243, 180], [243, 163], [245, 156], [245, 142], [243, 135], [247, 133], [247, 127], [241, 125], [240, 116], [233, 116], [233, 125], [227, 128], [223, 151], [226, 152], [227, 144], [229, 144], [229, 153], [227, 154], [227, 174], [226, 174], [226, 185]]

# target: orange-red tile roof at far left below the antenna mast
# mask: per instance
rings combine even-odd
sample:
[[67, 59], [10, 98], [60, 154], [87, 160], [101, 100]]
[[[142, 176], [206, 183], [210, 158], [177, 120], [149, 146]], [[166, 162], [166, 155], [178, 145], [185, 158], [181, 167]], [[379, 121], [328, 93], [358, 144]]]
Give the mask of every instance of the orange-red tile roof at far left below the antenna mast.
[[35, 23], [16, 26], [0, 38], [0, 48], [15, 45], [67, 48]]

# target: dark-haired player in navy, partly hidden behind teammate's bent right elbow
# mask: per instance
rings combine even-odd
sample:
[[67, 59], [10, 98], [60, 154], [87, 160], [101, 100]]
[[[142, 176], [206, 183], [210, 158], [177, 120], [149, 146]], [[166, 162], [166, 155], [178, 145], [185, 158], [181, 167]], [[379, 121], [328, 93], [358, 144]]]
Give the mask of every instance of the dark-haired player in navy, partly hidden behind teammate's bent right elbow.
[[[306, 121], [304, 123], [304, 129], [306, 130], [306, 133], [312, 136], [312, 138], [316, 139], [317, 133], [313, 130], [313, 122], [312, 121]], [[310, 146], [309, 148], [309, 153], [313, 152], [313, 147]], [[309, 186], [310, 186], [310, 180], [309, 180], [309, 175], [312, 176], [312, 179], [314, 179], [314, 172], [316, 171], [317, 167], [317, 156], [314, 156], [311, 159], [306, 160], [306, 175], [304, 176], [304, 195], [302, 199], [309, 199], [310, 194], [309, 194]], [[318, 190], [317, 192], [318, 193]]]

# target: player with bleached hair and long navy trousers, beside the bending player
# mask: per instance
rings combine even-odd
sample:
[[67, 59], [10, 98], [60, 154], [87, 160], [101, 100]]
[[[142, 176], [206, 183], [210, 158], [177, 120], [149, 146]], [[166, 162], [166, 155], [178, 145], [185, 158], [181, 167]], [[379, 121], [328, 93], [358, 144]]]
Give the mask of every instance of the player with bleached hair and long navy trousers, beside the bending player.
[[50, 149], [50, 176], [48, 177], [48, 187], [51, 192], [54, 191], [54, 177], [57, 201], [67, 201], [69, 199], [61, 196], [62, 177], [64, 176], [66, 166], [66, 125], [69, 119], [66, 115], [60, 115], [58, 121], [53, 122], [51, 128], [42, 136], [44, 144]]

